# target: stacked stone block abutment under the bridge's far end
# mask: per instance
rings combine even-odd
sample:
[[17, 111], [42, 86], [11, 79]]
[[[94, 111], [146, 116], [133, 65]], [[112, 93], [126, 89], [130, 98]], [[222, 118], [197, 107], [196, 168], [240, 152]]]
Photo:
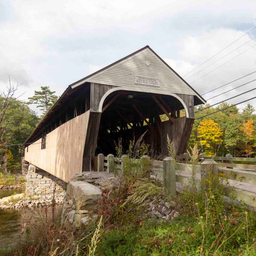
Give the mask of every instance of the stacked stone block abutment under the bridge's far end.
[[29, 164], [27, 179], [27, 195], [44, 195], [53, 191], [63, 192], [67, 189], [67, 183], [53, 176], [49, 172], [45, 172], [36, 166]]

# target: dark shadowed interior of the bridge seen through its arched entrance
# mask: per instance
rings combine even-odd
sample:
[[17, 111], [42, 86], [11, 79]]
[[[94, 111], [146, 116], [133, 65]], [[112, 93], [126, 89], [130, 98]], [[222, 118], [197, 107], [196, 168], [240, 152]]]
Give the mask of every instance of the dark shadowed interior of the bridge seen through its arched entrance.
[[[111, 102], [112, 99], [115, 100]], [[102, 107], [96, 155], [116, 155], [115, 148], [119, 139], [122, 140], [123, 154], [126, 154], [130, 140], [138, 140], [146, 131], [144, 140], [150, 145], [150, 154], [159, 155], [163, 121], [161, 115], [167, 112], [173, 120], [180, 117], [181, 109], [184, 109], [182, 103], [170, 95], [131, 91], [111, 93]], [[173, 123], [167, 116], [164, 120]]]

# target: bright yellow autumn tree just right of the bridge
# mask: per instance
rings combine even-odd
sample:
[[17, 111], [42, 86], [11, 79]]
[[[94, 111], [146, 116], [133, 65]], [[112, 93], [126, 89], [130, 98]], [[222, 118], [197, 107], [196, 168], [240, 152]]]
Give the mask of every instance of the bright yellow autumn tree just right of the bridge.
[[218, 154], [220, 144], [223, 141], [221, 138], [223, 131], [219, 124], [212, 119], [203, 119], [198, 125], [198, 138], [202, 151], [206, 156], [216, 156]]

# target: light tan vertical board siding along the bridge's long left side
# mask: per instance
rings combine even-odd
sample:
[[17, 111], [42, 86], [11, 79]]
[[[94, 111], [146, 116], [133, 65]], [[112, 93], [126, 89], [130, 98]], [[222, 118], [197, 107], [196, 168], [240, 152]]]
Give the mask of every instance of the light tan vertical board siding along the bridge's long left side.
[[45, 149], [41, 149], [42, 139], [29, 145], [25, 160], [66, 182], [82, 172], [89, 114], [87, 111], [48, 133]]

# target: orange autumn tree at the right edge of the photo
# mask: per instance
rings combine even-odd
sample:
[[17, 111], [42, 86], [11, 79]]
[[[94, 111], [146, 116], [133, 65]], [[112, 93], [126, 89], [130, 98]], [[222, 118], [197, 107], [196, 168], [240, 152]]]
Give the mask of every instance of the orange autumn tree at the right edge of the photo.
[[240, 130], [245, 135], [245, 142], [244, 142], [245, 156], [250, 157], [253, 153], [252, 146], [255, 139], [255, 127], [253, 124], [253, 120], [247, 120], [246, 122], [244, 122]]

